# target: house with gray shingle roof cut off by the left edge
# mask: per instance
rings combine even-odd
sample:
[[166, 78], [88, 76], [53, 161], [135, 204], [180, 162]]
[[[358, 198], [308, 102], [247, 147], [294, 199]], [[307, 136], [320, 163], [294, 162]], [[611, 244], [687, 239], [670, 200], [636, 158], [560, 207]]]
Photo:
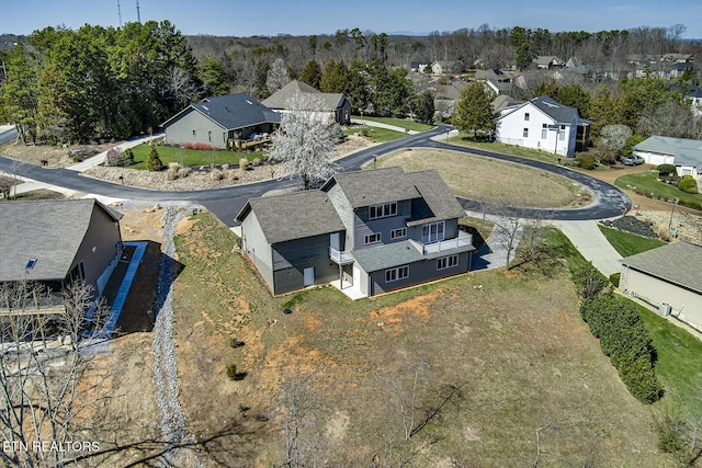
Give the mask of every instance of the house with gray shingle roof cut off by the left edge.
[[0, 283], [59, 293], [81, 281], [101, 296], [122, 253], [121, 218], [93, 198], [0, 203]]

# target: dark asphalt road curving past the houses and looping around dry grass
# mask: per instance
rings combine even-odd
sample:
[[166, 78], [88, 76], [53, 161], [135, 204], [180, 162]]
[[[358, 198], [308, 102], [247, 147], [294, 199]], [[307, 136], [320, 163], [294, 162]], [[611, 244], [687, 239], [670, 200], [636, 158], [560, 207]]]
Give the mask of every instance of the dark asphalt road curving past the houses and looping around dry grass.
[[[548, 219], [558, 220], [603, 219], [621, 215], [622, 207], [626, 207], [627, 209], [631, 208], [631, 201], [619, 189], [580, 172], [571, 171], [565, 167], [514, 158], [511, 156], [499, 155], [490, 151], [456, 147], [431, 139], [434, 136], [446, 134], [449, 130], [451, 130], [451, 127], [439, 126], [430, 132], [424, 132], [418, 135], [410, 135], [405, 138], [388, 141], [386, 144], [350, 155], [339, 160], [338, 164], [340, 165], [341, 171], [353, 171], [360, 169], [363, 164], [373, 161], [374, 157], [381, 158], [384, 155], [397, 151], [403, 148], [448, 149], [452, 151], [478, 155], [486, 158], [499, 159], [502, 161], [510, 161], [563, 175], [584, 185], [596, 195], [595, 202], [587, 207], [577, 209], [550, 209], [542, 210], [540, 213], [536, 213], [536, 210], [533, 209], [520, 208], [519, 212], [514, 212], [518, 213], [520, 217], [543, 216]], [[4, 134], [2, 135], [4, 136]], [[12, 136], [12, 138], [14, 138], [14, 136]], [[248, 185], [236, 185], [205, 191], [157, 192], [112, 184], [109, 182], [80, 175], [80, 173], [68, 169], [41, 168], [38, 165], [27, 164], [2, 156], [0, 156], [0, 172], [24, 176], [38, 182], [63, 186], [86, 194], [98, 194], [114, 198], [135, 199], [148, 203], [167, 201], [188, 201], [197, 203], [204, 205], [207, 209], [214, 213], [215, 216], [222, 219], [222, 221], [227, 226], [235, 226], [237, 224], [234, 218], [241, 209], [241, 207], [246, 204], [247, 199], [262, 196], [267, 192], [273, 190], [288, 189], [295, 185], [299, 185], [298, 180], [271, 180]], [[497, 175], [499, 174], [496, 174], [496, 176]], [[544, 196], [548, 196], [548, 194], [544, 194]], [[495, 207], [480, 206], [474, 201], [463, 198], [458, 199], [466, 209], [475, 212], [486, 210], [487, 213], [494, 213], [495, 209]], [[501, 208], [500, 213], [496, 214], [505, 214], [503, 208]]]

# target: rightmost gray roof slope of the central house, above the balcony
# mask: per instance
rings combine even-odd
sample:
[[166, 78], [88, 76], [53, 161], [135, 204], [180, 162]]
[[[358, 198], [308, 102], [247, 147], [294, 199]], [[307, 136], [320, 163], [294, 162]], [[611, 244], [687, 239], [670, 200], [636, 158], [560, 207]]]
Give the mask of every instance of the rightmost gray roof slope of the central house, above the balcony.
[[412, 218], [407, 222], [408, 226], [465, 216], [465, 209], [451, 193], [439, 172], [430, 169], [408, 172], [406, 176], [421, 196], [412, 201]]

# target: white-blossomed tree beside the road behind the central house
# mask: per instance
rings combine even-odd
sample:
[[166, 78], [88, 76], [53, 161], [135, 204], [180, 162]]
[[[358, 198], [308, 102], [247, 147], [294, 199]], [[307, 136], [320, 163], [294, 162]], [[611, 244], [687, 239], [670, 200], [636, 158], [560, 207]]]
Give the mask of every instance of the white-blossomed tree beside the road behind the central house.
[[305, 190], [335, 173], [331, 156], [337, 141], [336, 123], [322, 112], [322, 102], [309, 93], [295, 93], [287, 100], [281, 127], [273, 137], [268, 157], [281, 162], [278, 178], [303, 180]]

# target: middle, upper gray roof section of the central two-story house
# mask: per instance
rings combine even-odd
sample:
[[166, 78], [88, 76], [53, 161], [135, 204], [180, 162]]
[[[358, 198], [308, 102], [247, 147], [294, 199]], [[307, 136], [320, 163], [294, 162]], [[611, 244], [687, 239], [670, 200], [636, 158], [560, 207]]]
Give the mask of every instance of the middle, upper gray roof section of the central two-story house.
[[335, 184], [339, 185], [352, 208], [412, 199], [419, 196], [417, 189], [401, 168], [340, 172], [332, 175], [321, 190], [326, 191]]

